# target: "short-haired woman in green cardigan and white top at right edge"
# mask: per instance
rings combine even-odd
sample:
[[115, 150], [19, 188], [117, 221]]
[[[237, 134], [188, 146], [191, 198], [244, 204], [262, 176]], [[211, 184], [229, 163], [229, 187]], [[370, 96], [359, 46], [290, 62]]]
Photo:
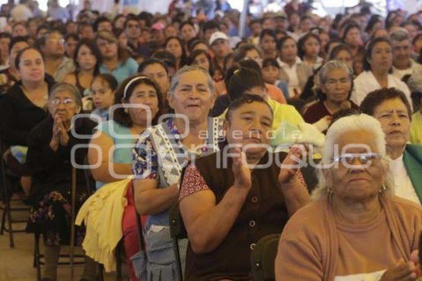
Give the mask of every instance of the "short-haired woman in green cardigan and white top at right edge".
[[405, 94], [395, 88], [370, 92], [360, 104], [360, 110], [381, 123], [387, 154], [392, 159], [389, 172], [394, 178], [395, 194], [420, 205], [422, 146], [407, 143], [412, 115]]

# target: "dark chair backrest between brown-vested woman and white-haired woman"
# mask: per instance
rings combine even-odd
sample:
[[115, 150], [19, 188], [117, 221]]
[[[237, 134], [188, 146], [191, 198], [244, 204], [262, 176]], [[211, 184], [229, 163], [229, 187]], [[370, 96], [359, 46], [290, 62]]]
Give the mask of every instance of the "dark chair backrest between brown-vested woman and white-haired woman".
[[276, 280], [274, 262], [280, 234], [270, 234], [261, 238], [251, 253], [251, 268], [253, 281]]

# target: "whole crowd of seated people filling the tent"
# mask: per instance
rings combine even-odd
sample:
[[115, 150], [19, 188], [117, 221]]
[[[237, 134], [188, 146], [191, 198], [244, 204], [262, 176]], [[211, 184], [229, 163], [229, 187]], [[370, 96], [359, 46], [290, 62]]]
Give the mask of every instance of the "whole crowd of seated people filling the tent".
[[129, 280], [177, 280], [174, 205], [188, 281], [251, 280], [275, 233], [277, 280], [421, 278], [422, 11], [320, 17], [291, 0], [239, 37], [239, 11], [217, 2], [213, 18], [174, 3], [5, 14], [0, 138], [42, 280], [57, 280], [72, 209], [80, 280], [115, 270], [120, 240]]

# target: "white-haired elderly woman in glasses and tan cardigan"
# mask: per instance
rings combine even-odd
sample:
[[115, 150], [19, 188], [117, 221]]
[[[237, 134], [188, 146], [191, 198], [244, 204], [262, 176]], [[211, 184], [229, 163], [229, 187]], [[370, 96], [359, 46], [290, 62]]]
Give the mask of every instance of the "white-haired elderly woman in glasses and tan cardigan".
[[420, 206], [396, 197], [380, 123], [351, 115], [328, 129], [314, 202], [281, 234], [276, 280], [416, 280]]

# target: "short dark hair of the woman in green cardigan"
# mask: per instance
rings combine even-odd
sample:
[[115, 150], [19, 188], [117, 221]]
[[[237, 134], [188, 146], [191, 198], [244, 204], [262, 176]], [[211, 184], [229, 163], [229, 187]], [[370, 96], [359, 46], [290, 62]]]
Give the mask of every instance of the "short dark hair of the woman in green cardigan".
[[360, 111], [367, 115], [373, 116], [375, 108], [386, 100], [400, 99], [406, 106], [409, 119], [412, 118], [412, 109], [406, 95], [396, 88], [382, 88], [370, 92], [360, 103]]

